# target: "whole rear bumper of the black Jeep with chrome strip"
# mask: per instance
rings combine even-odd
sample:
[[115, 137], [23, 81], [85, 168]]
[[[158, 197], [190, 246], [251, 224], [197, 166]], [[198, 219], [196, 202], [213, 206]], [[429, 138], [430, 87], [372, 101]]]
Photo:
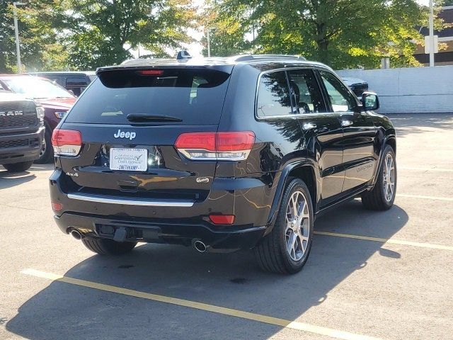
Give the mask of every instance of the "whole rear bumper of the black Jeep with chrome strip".
[[[212, 249], [255, 246], [265, 234], [274, 191], [262, 179], [216, 178], [204, 200], [157, 200], [84, 193], [74, 191], [71, 183], [61, 170], [50, 176], [50, 198], [62, 204], [55, 215], [62, 232], [78, 229], [92, 237], [113, 238], [115, 229], [125, 228], [128, 241], [190, 245], [200, 239]], [[235, 215], [234, 225], [214, 225], [212, 213]]]

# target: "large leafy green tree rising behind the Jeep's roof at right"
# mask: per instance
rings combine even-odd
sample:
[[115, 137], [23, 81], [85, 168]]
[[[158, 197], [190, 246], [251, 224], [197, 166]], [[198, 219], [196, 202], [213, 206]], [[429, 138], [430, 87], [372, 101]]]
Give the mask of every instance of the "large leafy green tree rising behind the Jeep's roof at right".
[[427, 19], [415, 0], [223, 0], [219, 8], [233, 16], [246, 6], [243, 18], [256, 23], [254, 50], [304, 55], [332, 67], [417, 65], [416, 29]]

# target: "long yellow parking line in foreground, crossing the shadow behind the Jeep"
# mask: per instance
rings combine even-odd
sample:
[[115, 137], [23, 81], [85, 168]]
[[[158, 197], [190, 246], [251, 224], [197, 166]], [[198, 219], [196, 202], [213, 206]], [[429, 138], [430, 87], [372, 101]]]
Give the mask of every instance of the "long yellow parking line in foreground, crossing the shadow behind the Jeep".
[[228, 315], [230, 317], [240, 317], [241, 319], [248, 319], [265, 324], [273, 324], [275, 326], [296, 329], [299, 331], [306, 331], [309, 333], [330, 336], [336, 339], [344, 340], [382, 340], [373, 336], [366, 336], [361, 334], [350, 333], [348, 331], [340, 331], [327, 327], [316, 326], [314, 324], [306, 324], [304, 322], [289, 321], [279, 319], [277, 317], [269, 317], [267, 315], [255, 314], [250, 312], [243, 312], [242, 310], [233, 310], [231, 308], [219, 307], [216, 305], [208, 305], [207, 303], [178, 299], [176, 297], [168, 297], [164, 295], [156, 295], [151, 293], [140, 292], [139, 290], [132, 290], [127, 288], [120, 288], [114, 285], [105, 285], [103, 283], [96, 283], [88, 280], [80, 280], [78, 278], [70, 278], [68, 276], [61, 276], [55, 273], [46, 273], [44, 271], [37, 271], [35, 269], [25, 269], [21, 273], [35, 276], [38, 278], [45, 278], [47, 280], [69, 283], [71, 285], [79, 285], [86, 288], [93, 288], [96, 290], [103, 290], [105, 292], [117, 293], [128, 295], [132, 297], [140, 297], [142, 299], [153, 300], [157, 302], [164, 302], [171, 305], [178, 305], [183, 307], [194, 308], [196, 310], [204, 310], [206, 312], [214, 312], [217, 314]]

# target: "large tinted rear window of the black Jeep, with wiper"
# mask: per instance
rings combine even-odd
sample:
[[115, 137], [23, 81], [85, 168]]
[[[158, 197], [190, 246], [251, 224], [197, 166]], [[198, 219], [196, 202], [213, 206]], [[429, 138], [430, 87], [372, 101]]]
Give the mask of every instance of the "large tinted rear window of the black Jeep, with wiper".
[[66, 121], [130, 124], [127, 115], [143, 114], [179, 118], [183, 125], [218, 124], [228, 79], [229, 74], [207, 69], [103, 72]]

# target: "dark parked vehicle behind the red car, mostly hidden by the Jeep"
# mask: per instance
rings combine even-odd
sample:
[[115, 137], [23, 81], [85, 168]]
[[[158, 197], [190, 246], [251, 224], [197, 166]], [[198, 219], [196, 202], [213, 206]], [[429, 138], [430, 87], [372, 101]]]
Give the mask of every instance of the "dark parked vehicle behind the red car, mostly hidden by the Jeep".
[[34, 76], [43, 77], [55, 81], [60, 86], [78, 97], [86, 89], [91, 81], [96, 79], [96, 72], [33, 72]]

